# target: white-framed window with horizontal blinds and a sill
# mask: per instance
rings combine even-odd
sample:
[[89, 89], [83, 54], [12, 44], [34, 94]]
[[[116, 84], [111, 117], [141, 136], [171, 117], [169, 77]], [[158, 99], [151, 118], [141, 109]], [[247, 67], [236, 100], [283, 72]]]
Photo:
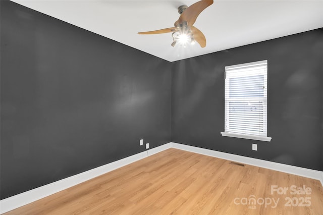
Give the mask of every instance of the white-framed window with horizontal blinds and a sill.
[[222, 136], [267, 137], [267, 61], [225, 67], [225, 128]]

